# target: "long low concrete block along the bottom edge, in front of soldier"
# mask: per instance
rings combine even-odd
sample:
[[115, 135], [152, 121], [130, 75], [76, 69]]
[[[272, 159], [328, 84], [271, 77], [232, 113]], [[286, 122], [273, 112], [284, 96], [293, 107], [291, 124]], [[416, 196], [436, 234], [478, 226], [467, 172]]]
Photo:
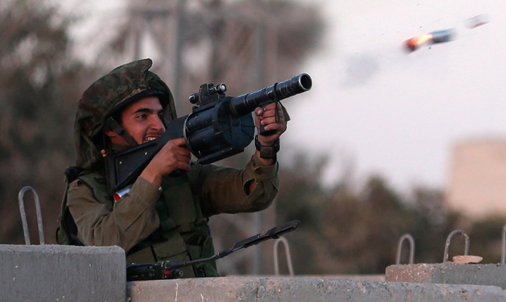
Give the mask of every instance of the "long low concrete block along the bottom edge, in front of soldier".
[[131, 302], [153, 301], [505, 301], [495, 286], [332, 280], [326, 278], [218, 277], [127, 283]]

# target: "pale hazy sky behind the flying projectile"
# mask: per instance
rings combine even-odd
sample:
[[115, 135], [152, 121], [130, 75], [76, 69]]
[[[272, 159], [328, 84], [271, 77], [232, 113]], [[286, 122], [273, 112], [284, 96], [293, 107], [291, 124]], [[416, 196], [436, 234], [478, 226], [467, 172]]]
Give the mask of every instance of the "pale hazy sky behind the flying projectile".
[[[444, 188], [452, 146], [506, 138], [506, 2], [313, 1], [329, 22], [324, 49], [303, 67], [313, 89], [289, 107], [286, 140], [332, 156], [328, 181], [352, 167], [401, 190]], [[466, 20], [487, 14], [470, 30]], [[412, 36], [453, 28], [454, 40], [408, 54]], [[295, 104], [296, 103], [296, 104]]]

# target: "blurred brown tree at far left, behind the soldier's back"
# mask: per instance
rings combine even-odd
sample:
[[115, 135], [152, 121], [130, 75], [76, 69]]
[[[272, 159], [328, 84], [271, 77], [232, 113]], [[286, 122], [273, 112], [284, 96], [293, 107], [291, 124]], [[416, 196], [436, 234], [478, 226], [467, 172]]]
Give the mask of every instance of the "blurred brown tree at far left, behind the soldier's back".
[[[74, 104], [86, 70], [69, 56], [69, 21], [36, 0], [0, 2], [0, 242], [22, 243], [17, 194], [25, 185], [40, 196], [46, 242], [63, 193], [63, 171], [75, 160]], [[30, 230], [35, 208], [27, 194]]]

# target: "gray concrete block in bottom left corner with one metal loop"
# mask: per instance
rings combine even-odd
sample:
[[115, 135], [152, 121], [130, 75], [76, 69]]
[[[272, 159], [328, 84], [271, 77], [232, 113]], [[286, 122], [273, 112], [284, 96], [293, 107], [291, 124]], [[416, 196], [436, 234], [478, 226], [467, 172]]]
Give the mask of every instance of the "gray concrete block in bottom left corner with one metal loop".
[[0, 245], [0, 301], [126, 299], [118, 246]]

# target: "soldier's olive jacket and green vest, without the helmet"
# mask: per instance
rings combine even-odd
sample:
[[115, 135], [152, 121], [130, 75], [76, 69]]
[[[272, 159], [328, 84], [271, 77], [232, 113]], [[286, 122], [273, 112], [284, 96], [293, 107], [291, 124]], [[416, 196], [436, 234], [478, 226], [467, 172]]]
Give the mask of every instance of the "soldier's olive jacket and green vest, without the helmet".
[[[263, 167], [252, 157], [243, 170], [193, 164], [187, 176], [166, 177], [163, 193], [138, 178], [114, 202], [101, 173], [87, 173], [68, 189], [67, 206], [85, 245], [118, 245], [128, 263], [211, 257], [214, 247], [206, 217], [260, 211], [278, 191], [278, 164]], [[246, 194], [246, 184], [257, 181]], [[183, 269], [185, 276], [217, 276], [214, 263]]]

